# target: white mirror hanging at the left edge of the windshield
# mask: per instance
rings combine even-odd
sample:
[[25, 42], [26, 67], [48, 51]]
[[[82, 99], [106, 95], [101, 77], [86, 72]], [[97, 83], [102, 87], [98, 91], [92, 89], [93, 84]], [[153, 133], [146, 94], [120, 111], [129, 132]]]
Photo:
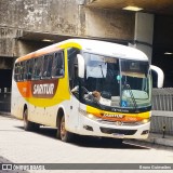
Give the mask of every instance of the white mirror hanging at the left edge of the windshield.
[[77, 54], [78, 59], [78, 77], [84, 78], [84, 58], [82, 55]]

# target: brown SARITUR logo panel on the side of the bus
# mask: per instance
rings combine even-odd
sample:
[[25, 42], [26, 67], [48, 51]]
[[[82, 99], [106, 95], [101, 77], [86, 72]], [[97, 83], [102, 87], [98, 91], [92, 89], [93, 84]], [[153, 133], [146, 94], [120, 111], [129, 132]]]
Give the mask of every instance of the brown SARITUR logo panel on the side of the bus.
[[32, 81], [31, 92], [34, 97], [51, 98], [55, 95], [57, 80]]

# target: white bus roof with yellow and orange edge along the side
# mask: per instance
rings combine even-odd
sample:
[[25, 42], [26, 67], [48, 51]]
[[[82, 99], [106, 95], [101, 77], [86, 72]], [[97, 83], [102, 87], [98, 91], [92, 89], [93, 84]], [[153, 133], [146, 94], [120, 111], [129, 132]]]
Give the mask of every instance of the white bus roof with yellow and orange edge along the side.
[[62, 50], [63, 48], [72, 48], [77, 46], [81, 49], [83, 52], [91, 52], [95, 54], [102, 54], [106, 56], [112, 56], [118, 58], [125, 59], [135, 59], [135, 61], [148, 61], [148, 57], [142, 51], [130, 48], [127, 45], [111, 43], [106, 41], [98, 40], [90, 40], [90, 39], [68, 39], [38, 51], [31, 52], [25, 56], [22, 56], [16, 59], [16, 62], [29, 59], [31, 57], [38, 57], [44, 54], [49, 54], [51, 52], [55, 52]]

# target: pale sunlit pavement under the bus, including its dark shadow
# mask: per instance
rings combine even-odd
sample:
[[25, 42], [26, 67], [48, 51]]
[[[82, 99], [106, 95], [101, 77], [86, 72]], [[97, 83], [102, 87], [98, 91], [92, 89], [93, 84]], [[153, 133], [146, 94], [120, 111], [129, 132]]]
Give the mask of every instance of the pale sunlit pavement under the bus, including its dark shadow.
[[[1, 163], [173, 163], [173, 148], [143, 142], [127, 142], [80, 137], [74, 144], [55, 138], [55, 130], [41, 128], [39, 132], [25, 132], [23, 121], [0, 116]], [[159, 170], [160, 171], [160, 170]], [[147, 171], [147, 172], [159, 172]], [[0, 171], [2, 172], [2, 171]], [[35, 172], [35, 171], [31, 171]], [[38, 171], [36, 171], [38, 173]], [[40, 171], [39, 171], [40, 172]], [[57, 172], [57, 171], [42, 171]], [[64, 171], [58, 172], [117, 172]], [[118, 172], [127, 172], [120, 170]], [[146, 172], [129, 171], [129, 172]], [[163, 171], [161, 171], [163, 172]], [[165, 171], [167, 173], [169, 171]], [[172, 171], [170, 171], [172, 172]], [[4, 173], [4, 171], [2, 172]], [[21, 173], [21, 172], [19, 172]]]

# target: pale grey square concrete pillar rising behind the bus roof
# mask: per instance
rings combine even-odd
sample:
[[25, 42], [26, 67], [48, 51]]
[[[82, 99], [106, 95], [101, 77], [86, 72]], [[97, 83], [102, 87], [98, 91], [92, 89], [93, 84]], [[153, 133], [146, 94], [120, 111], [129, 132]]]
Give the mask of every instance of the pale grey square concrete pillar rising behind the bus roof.
[[151, 62], [154, 14], [137, 12], [135, 15], [134, 44], [136, 49], [146, 53]]

